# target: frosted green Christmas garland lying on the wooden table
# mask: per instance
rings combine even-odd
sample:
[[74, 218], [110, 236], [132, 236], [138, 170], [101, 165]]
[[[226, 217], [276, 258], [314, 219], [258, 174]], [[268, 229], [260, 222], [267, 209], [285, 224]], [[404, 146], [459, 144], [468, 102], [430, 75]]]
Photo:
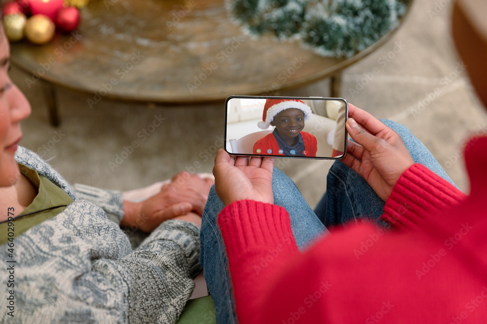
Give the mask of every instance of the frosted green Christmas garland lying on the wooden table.
[[300, 39], [322, 56], [350, 57], [399, 25], [409, 0], [227, 0], [252, 35]]

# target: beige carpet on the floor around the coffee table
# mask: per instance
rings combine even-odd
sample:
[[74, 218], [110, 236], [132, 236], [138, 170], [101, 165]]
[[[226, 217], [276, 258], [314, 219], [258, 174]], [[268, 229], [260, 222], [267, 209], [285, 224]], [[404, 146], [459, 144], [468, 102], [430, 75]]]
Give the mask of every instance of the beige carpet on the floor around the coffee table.
[[[463, 163], [456, 156], [468, 133], [485, 127], [486, 114], [453, 51], [450, 5], [442, 8], [438, 3], [435, 7], [434, 0], [415, 0], [392, 39], [344, 71], [341, 97], [378, 118], [408, 126], [455, 183], [468, 191]], [[372, 71], [378, 72], [370, 77]], [[211, 172], [215, 152], [223, 146], [223, 102], [148, 107], [103, 100], [91, 109], [87, 99], [93, 95], [60, 90], [62, 124], [55, 129], [48, 123], [40, 82], [29, 88], [28, 74], [13, 68], [11, 75], [33, 107], [32, 116], [23, 122], [21, 145], [50, 159], [70, 182], [126, 190], [181, 170]], [[363, 81], [363, 88], [357, 86], [367, 75], [372, 80]], [[328, 89], [323, 80], [278, 95], [329, 96]], [[131, 150], [133, 141], [139, 145]], [[122, 153], [126, 151], [130, 154]], [[316, 205], [331, 162], [278, 159], [276, 164], [309, 204]]]

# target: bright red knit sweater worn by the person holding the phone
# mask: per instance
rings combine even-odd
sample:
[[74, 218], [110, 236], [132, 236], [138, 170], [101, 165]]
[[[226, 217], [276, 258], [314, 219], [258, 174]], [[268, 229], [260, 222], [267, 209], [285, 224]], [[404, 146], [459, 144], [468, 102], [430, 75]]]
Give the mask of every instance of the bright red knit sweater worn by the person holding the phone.
[[332, 229], [302, 254], [283, 208], [225, 207], [239, 322], [487, 323], [487, 138], [465, 156], [469, 196], [415, 164], [384, 208], [395, 233]]

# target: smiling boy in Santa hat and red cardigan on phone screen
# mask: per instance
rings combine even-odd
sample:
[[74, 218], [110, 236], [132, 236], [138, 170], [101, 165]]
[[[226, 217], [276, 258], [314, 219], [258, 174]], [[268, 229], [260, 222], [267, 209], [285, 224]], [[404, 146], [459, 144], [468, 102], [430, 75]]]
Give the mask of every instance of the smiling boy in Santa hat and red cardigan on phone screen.
[[258, 125], [274, 131], [254, 144], [254, 154], [316, 156], [316, 137], [302, 132], [304, 121], [310, 119], [311, 108], [298, 99], [267, 99]]

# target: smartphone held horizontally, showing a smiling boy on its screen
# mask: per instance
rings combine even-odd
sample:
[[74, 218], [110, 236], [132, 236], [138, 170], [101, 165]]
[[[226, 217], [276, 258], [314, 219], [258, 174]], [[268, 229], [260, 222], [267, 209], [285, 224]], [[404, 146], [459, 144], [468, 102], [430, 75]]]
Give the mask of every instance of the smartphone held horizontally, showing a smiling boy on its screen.
[[346, 154], [342, 98], [230, 96], [225, 150], [232, 155], [339, 160]]

